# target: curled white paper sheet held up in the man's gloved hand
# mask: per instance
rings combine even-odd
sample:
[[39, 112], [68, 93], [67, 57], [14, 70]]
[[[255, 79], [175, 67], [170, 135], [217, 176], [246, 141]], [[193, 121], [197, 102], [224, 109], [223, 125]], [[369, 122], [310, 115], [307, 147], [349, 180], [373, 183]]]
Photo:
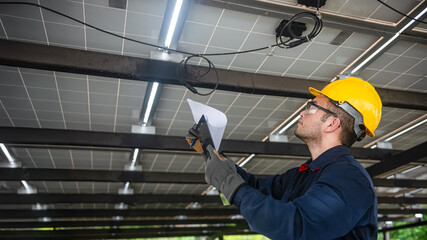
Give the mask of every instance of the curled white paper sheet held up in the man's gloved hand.
[[212, 142], [215, 149], [218, 151], [222, 136], [224, 135], [225, 126], [227, 126], [227, 117], [223, 112], [213, 107], [209, 107], [191, 99], [187, 99], [187, 102], [188, 105], [190, 105], [194, 122], [198, 123], [202, 115], [205, 115]]

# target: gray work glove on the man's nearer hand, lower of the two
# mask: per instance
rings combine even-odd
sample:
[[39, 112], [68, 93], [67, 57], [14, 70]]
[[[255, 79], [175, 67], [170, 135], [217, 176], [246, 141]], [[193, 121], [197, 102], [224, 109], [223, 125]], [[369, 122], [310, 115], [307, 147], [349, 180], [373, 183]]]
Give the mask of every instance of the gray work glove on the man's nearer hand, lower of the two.
[[233, 160], [220, 155], [212, 145], [206, 149], [209, 152], [205, 168], [205, 180], [214, 186], [232, 203], [238, 187], [245, 183], [243, 178], [237, 173]]

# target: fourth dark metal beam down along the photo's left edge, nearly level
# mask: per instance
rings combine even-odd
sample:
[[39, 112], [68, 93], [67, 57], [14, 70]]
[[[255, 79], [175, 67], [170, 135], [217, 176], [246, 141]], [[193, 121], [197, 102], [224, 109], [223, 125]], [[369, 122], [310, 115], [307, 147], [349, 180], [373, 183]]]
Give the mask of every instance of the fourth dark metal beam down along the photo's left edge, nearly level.
[[[39, 194], [14, 194], [1, 193], [0, 204], [55, 204], [55, 203], [126, 203], [130, 205], [144, 203], [221, 203], [218, 196], [208, 195], [181, 195], [181, 194], [55, 194], [55, 193], [39, 193]], [[411, 198], [395, 198], [395, 197], [378, 197], [379, 203], [394, 203], [394, 204], [425, 204], [427, 198], [411, 197]]]

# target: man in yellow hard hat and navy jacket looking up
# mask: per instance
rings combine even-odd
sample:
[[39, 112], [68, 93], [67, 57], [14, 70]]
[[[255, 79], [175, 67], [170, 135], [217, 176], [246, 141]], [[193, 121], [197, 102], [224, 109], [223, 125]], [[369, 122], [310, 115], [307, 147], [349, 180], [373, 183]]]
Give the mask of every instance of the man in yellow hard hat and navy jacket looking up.
[[[308, 161], [256, 178], [208, 145], [205, 180], [239, 209], [253, 231], [270, 239], [377, 239], [374, 186], [349, 148], [366, 134], [375, 136], [381, 99], [371, 84], [355, 77], [309, 91], [315, 98], [295, 130], [308, 146]], [[190, 137], [197, 138], [195, 130]]]

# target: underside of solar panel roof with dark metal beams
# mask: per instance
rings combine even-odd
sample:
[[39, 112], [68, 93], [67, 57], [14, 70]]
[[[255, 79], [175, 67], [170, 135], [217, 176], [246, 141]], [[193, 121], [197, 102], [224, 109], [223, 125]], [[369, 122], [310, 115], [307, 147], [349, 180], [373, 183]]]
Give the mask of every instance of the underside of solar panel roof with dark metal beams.
[[[223, 111], [221, 149], [236, 162], [254, 154], [244, 167], [268, 176], [309, 158], [294, 125], [281, 133], [287, 142], [269, 141], [311, 98], [307, 88], [350, 74], [375, 86], [384, 105], [376, 136], [352, 149], [373, 178], [380, 226], [427, 214], [427, 1], [384, 0], [409, 17], [421, 14], [411, 23], [380, 1], [329, 0], [319, 10], [320, 34], [288, 49], [274, 46], [276, 27], [315, 8], [297, 0], [184, 1], [171, 49], [197, 55], [270, 46], [205, 55], [216, 70], [204, 78], [177, 73], [186, 54], [121, 38], [162, 45], [172, 0], [25, 2], [117, 36], [0, 1], [0, 143], [11, 155], [0, 152], [2, 237], [252, 234], [204, 182], [204, 161], [184, 138], [194, 123], [187, 99]], [[203, 73], [208, 65], [196, 56], [188, 69]], [[161, 92], [136, 132], [153, 82]], [[217, 89], [200, 96], [184, 83], [201, 93]]]

